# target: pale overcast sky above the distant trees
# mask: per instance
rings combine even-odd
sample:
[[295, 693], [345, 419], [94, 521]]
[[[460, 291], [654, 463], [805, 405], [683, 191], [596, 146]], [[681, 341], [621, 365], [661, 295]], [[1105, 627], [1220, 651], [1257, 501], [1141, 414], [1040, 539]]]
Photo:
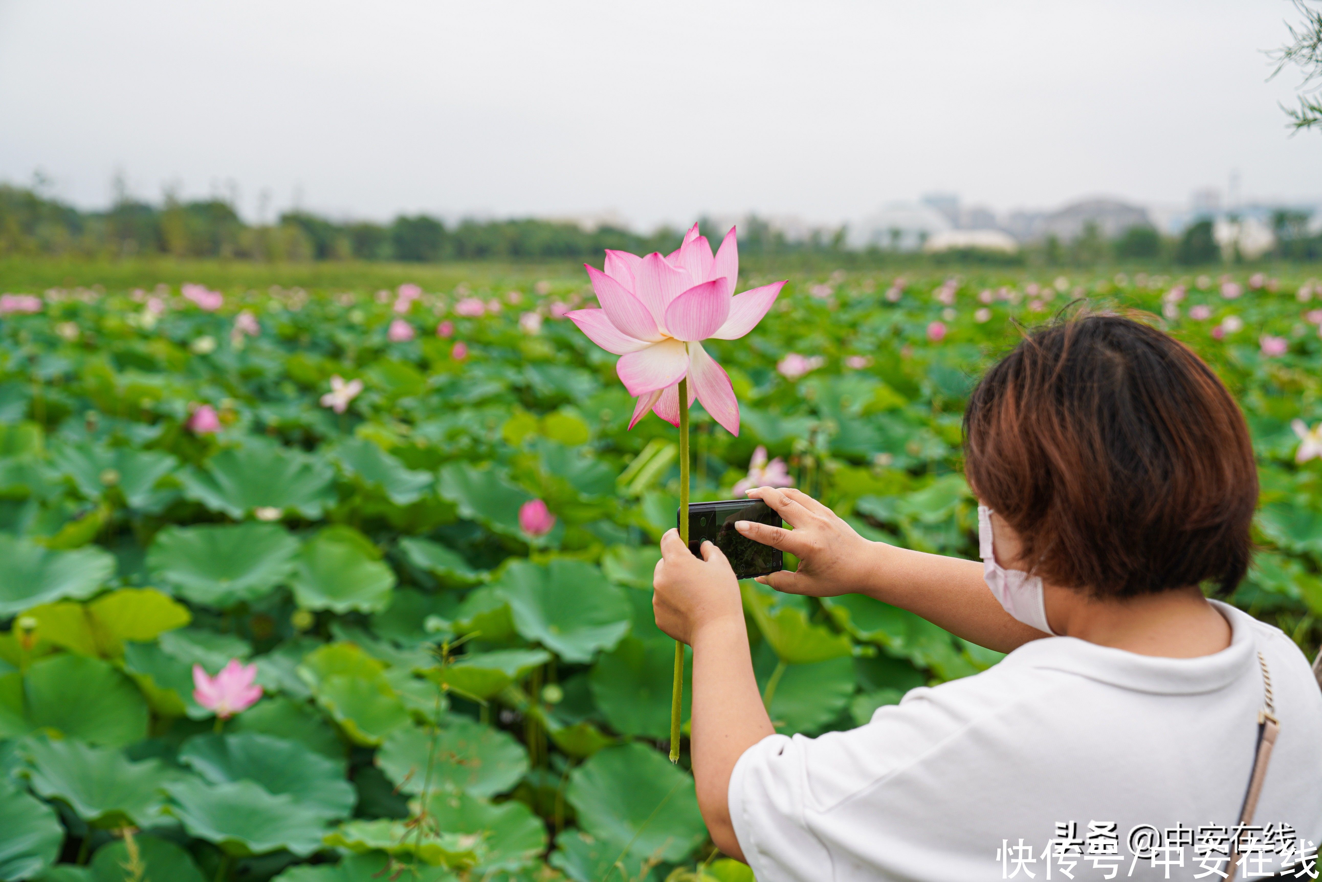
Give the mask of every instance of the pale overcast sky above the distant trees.
[[[0, 0], [0, 180], [267, 217], [1322, 194], [1286, 0]], [[233, 182], [233, 184], [230, 184]]]

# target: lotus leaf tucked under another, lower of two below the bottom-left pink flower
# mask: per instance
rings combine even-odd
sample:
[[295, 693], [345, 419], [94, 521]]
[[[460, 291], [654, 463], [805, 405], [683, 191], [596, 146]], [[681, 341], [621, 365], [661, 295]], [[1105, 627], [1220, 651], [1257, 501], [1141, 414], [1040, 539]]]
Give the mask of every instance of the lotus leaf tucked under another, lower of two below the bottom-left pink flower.
[[173, 800], [168, 811], [184, 829], [215, 842], [226, 854], [246, 857], [288, 849], [305, 857], [321, 848], [325, 817], [255, 782], [206, 784], [185, 779], [165, 789]]

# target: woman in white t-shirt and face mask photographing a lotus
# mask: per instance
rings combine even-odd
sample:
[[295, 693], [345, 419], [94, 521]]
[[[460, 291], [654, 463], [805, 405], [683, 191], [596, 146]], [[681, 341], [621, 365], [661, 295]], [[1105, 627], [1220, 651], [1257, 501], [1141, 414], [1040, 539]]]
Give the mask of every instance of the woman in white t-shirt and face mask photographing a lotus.
[[717, 845], [759, 882], [1069, 862], [1075, 878], [1219, 879], [1322, 841], [1318, 682], [1281, 631], [1199, 587], [1244, 578], [1257, 501], [1215, 374], [1159, 331], [1084, 315], [988, 372], [964, 428], [982, 563], [869, 542], [795, 489], [750, 491], [792, 529], [740, 532], [800, 561], [771, 587], [867, 594], [1010, 653], [859, 729], [776, 734], [728, 563], [662, 540], [653, 607], [694, 649], [693, 770]]

